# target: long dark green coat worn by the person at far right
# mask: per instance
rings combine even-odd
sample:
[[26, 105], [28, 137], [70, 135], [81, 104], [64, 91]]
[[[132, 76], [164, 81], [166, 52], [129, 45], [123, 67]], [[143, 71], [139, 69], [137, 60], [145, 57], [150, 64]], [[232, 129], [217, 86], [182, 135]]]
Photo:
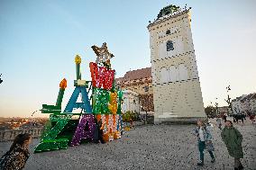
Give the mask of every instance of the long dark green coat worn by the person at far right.
[[235, 158], [242, 158], [242, 134], [239, 130], [236, 130], [233, 126], [230, 128], [224, 127], [221, 136], [229, 155]]

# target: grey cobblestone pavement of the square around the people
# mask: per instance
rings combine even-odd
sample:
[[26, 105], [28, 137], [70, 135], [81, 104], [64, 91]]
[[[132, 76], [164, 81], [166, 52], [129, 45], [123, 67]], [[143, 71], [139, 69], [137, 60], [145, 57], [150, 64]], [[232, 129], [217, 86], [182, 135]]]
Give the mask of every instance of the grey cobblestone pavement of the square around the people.
[[[215, 120], [212, 120], [215, 121]], [[235, 124], [243, 135], [244, 169], [256, 169], [256, 125], [246, 121]], [[68, 149], [32, 154], [24, 169], [233, 169], [220, 133], [215, 126], [213, 136], [216, 162], [205, 155], [205, 166], [198, 167], [197, 139], [191, 130], [195, 125], [144, 125], [125, 131], [122, 139], [106, 144], [82, 144]], [[31, 149], [39, 139], [34, 139]], [[0, 143], [3, 155], [11, 142]]]

